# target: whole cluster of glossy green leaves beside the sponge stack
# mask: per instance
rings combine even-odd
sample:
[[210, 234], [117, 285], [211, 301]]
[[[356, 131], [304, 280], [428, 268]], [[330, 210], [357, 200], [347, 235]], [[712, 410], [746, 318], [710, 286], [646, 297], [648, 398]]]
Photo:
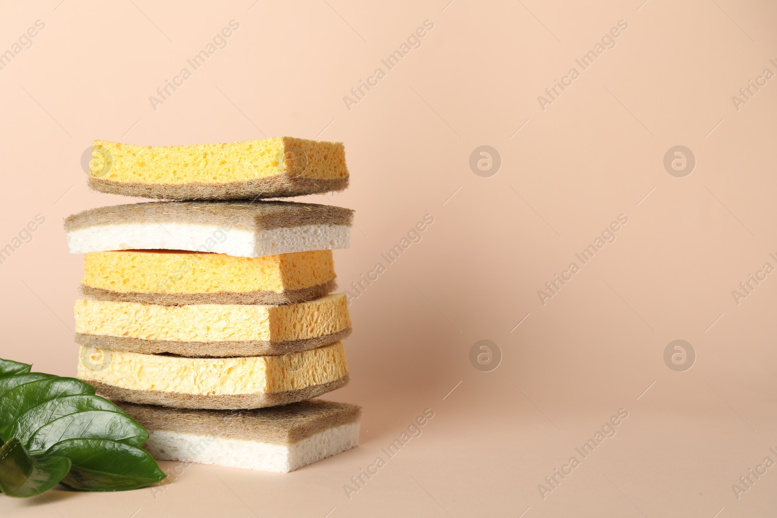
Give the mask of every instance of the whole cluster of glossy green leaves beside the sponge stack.
[[155, 484], [166, 475], [140, 448], [147, 439], [92, 385], [0, 359], [0, 492], [21, 497], [57, 483], [80, 491]]

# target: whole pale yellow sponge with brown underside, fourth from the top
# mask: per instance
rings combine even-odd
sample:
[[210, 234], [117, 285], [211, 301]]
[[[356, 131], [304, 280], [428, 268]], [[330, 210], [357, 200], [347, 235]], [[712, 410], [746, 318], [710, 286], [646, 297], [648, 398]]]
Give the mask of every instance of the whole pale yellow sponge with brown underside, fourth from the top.
[[345, 294], [299, 304], [75, 302], [85, 346], [181, 356], [254, 356], [315, 349], [350, 334]]

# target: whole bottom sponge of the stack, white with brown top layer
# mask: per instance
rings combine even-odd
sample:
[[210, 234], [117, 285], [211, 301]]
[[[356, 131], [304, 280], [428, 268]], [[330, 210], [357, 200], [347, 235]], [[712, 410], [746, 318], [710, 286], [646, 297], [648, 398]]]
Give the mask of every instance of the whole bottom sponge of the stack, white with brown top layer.
[[117, 405], [148, 429], [144, 448], [159, 461], [288, 473], [359, 444], [361, 407], [347, 403], [232, 412]]

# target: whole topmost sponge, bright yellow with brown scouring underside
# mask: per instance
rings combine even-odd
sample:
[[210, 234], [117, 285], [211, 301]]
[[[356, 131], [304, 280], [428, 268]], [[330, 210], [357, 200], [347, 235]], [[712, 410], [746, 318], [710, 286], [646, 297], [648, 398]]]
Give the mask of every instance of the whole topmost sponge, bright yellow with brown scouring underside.
[[103, 193], [166, 200], [245, 200], [340, 191], [348, 186], [340, 142], [272, 137], [229, 144], [140, 146], [94, 141]]

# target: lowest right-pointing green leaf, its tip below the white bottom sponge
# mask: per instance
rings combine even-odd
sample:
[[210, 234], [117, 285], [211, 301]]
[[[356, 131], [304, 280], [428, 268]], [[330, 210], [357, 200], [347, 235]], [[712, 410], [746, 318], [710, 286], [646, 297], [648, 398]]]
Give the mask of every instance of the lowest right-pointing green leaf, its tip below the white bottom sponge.
[[46, 454], [71, 460], [70, 474], [62, 485], [79, 491], [127, 491], [167, 476], [146, 450], [113, 440], [64, 440]]

